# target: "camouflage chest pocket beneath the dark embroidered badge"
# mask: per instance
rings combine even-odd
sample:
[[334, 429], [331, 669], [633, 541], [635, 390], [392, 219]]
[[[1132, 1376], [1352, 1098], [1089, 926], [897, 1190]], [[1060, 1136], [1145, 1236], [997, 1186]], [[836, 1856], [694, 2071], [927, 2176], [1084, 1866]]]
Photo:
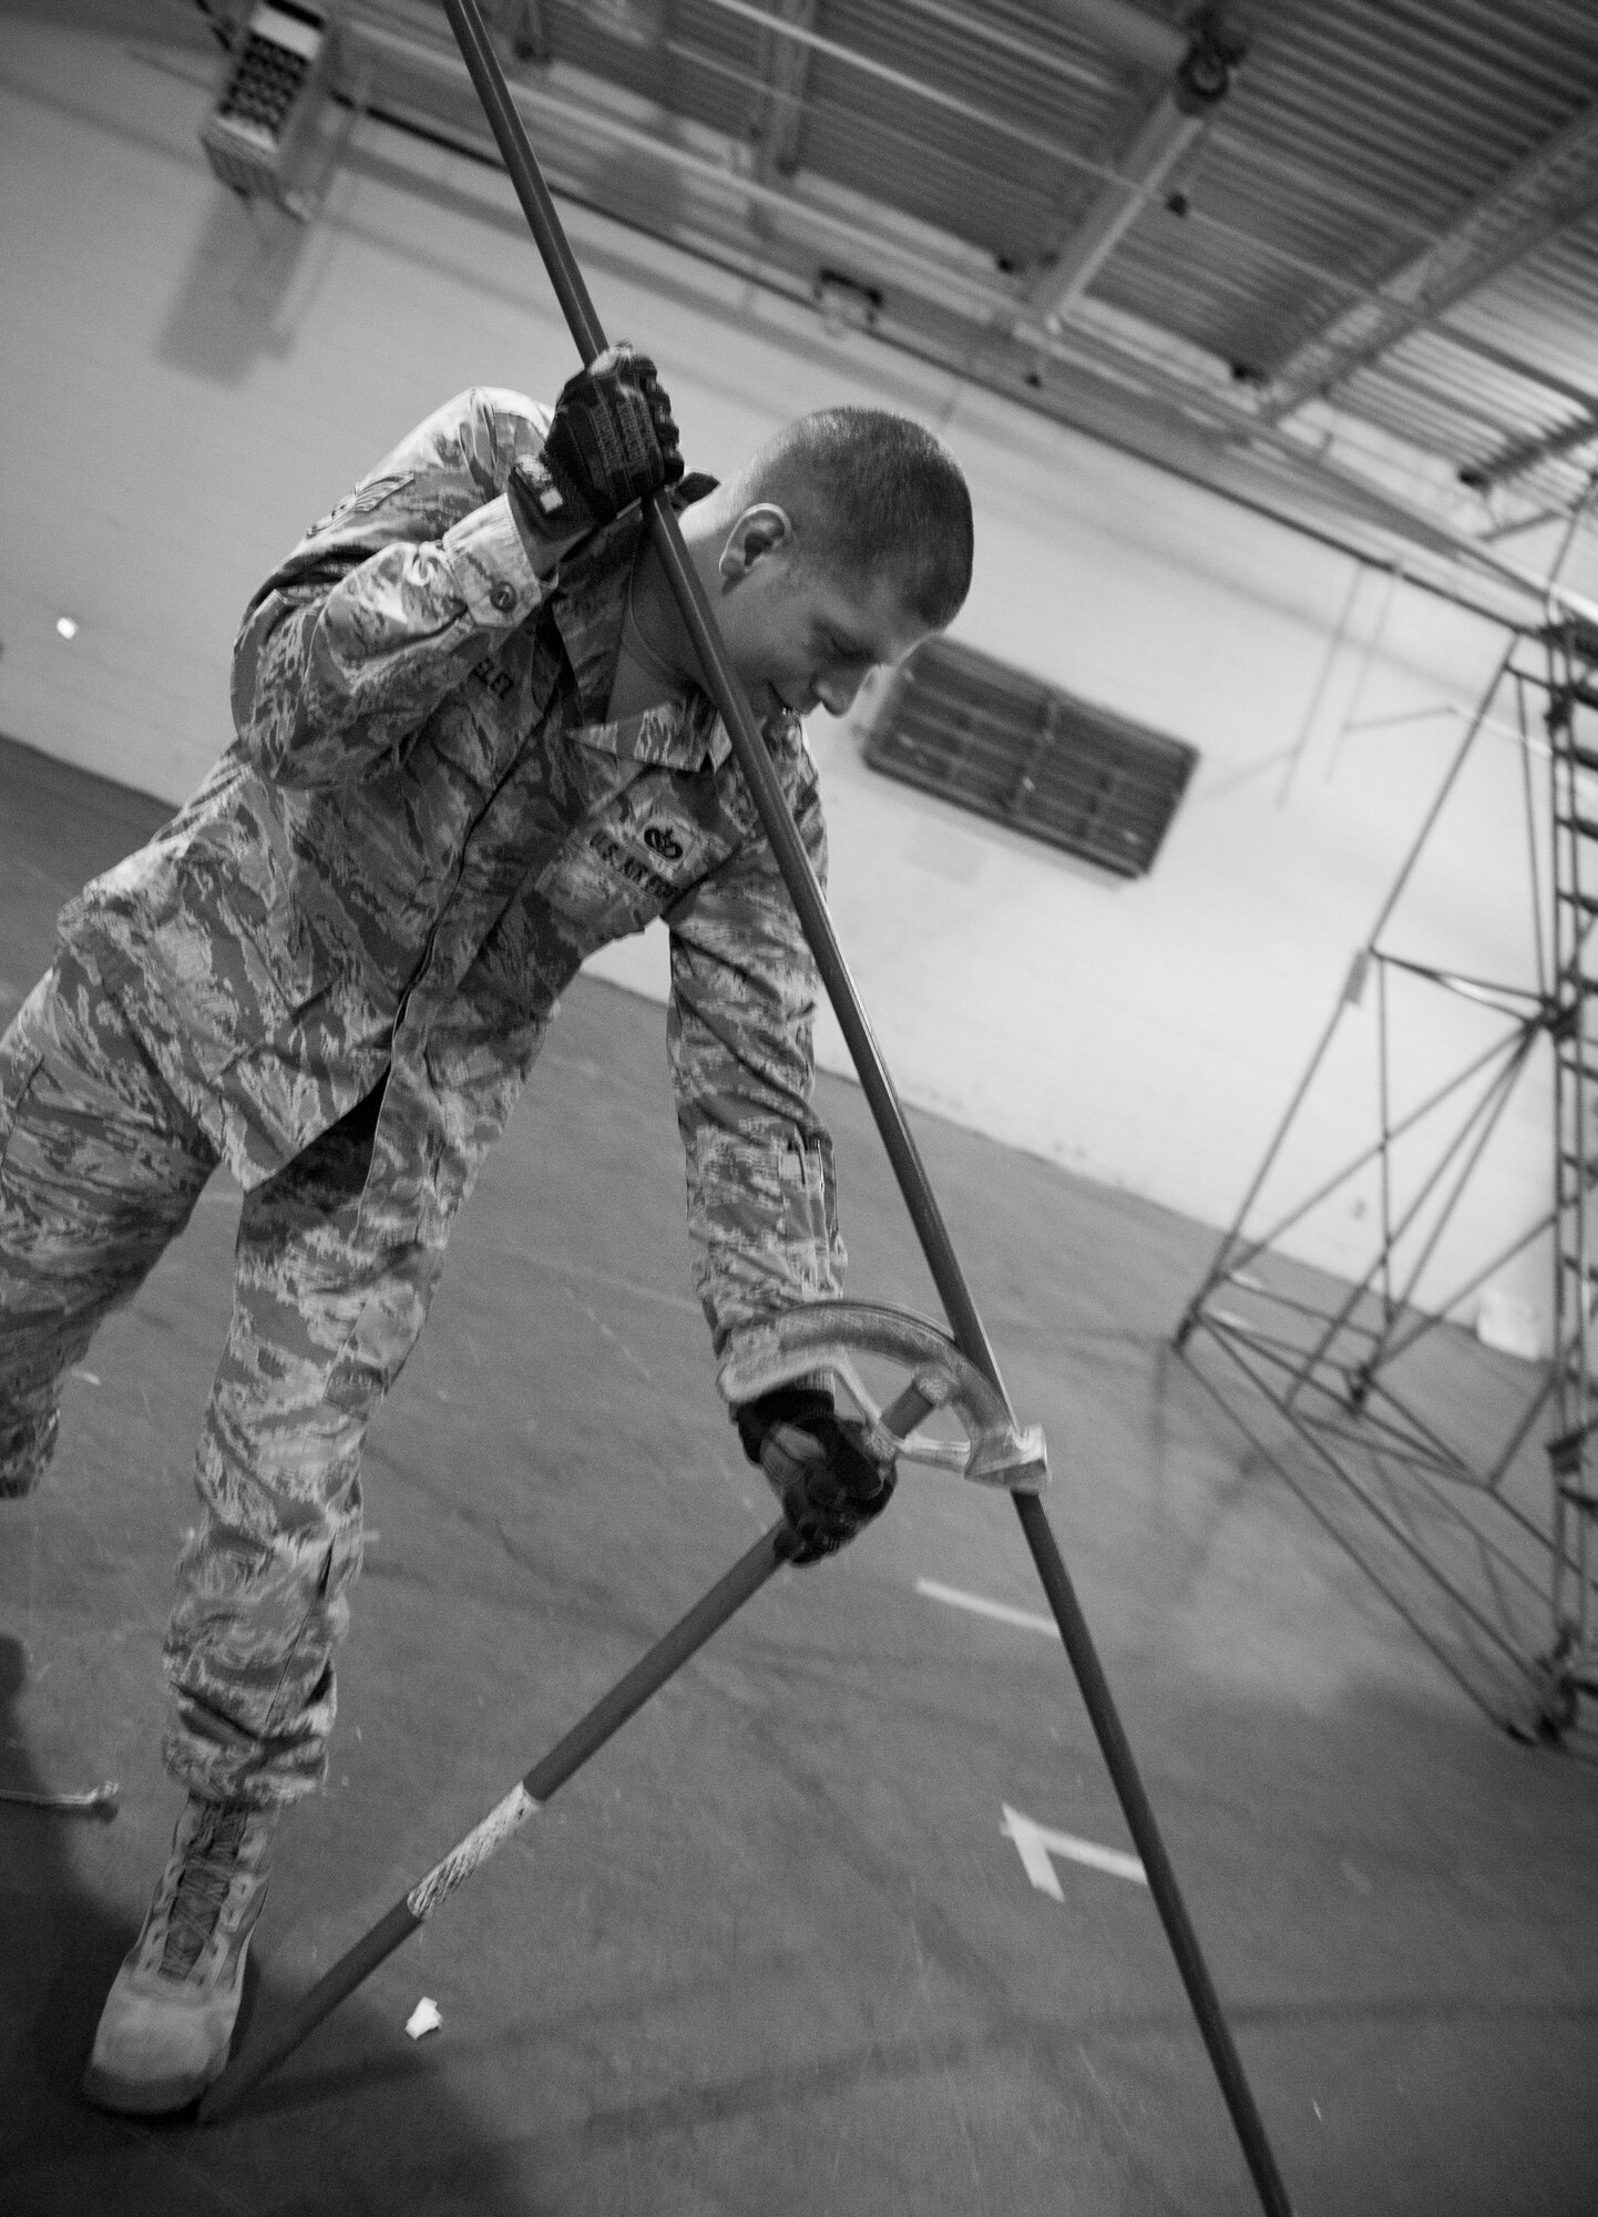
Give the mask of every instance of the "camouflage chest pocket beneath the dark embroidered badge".
[[570, 831], [539, 893], [594, 944], [643, 931], [723, 858], [714, 800], [707, 776], [645, 769]]

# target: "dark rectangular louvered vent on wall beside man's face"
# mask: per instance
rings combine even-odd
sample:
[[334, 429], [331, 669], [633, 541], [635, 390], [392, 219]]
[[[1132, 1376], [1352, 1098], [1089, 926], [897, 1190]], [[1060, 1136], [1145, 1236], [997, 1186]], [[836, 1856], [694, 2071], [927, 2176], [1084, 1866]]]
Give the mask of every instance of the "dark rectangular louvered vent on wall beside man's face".
[[1141, 878], [1199, 754], [933, 638], [887, 687], [864, 758], [889, 778]]

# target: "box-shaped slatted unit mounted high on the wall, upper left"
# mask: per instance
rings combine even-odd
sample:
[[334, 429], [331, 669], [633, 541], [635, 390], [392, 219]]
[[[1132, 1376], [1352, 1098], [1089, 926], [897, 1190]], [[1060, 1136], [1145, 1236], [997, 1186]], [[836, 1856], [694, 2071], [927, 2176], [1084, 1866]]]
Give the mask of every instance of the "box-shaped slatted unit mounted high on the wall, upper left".
[[293, 171], [317, 122], [332, 60], [326, 18], [301, 0], [262, 0], [233, 51], [199, 144], [235, 193], [262, 193], [306, 213]]

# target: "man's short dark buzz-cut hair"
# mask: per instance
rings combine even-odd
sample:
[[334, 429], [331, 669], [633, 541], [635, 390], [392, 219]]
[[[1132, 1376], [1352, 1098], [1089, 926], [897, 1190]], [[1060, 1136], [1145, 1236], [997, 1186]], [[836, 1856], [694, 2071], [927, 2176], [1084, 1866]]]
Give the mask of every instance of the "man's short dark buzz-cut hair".
[[971, 590], [971, 494], [949, 448], [887, 408], [796, 417], [729, 488], [738, 508], [789, 512], [800, 556], [853, 579], [895, 579], [904, 607], [942, 632]]

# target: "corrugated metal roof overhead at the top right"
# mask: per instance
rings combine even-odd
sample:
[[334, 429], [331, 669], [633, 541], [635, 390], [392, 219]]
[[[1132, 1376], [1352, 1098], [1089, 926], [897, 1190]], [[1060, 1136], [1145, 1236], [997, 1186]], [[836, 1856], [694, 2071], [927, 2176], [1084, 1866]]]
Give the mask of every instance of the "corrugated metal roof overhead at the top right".
[[[501, 29], [525, 7], [499, 0]], [[1516, 503], [1580, 494], [1598, 459], [1576, 443], [1598, 412], [1598, 126], [1558, 175], [1527, 164], [1587, 111], [1598, 124], [1598, 4], [1241, 0], [1248, 53], [1228, 98], [1137, 186], [1051, 339], [1048, 270], [1057, 255], [1075, 268], [1077, 226], [1106, 193], [1126, 200], [1117, 162], [1166, 102], [1148, 58], [1128, 55], [1175, 51], [1184, 9], [1126, 0], [1139, 35], [1115, 51], [1077, 13], [1073, 0], [541, 0], [550, 67], [523, 78], [570, 100], [563, 146], [587, 131], [596, 151], [567, 153], [567, 171], [590, 197], [605, 204], [621, 113], [607, 122], [605, 102], [623, 100], [634, 140], [689, 164], [658, 200], [665, 235], [725, 255], [742, 224], [789, 288], [842, 268], [882, 295], [884, 335], [949, 359], [980, 341], [977, 375], [1053, 412], [1099, 375], [1128, 443], [1139, 421], [1157, 443], [1175, 410], [1235, 450], [1254, 415], [1288, 421], [1314, 399], [1381, 435], [1372, 454], [1414, 448], [1430, 468], [1399, 470], [1410, 494], [1518, 457], [1476, 510], [1450, 494], [1450, 530], [1487, 534]], [[346, 0], [346, 18], [448, 49], [426, 0]], [[445, 104], [461, 115], [459, 93]], [[725, 188], [714, 155], [705, 168], [718, 146]], [[627, 162], [610, 168], [625, 186]], [[1481, 222], [1516, 180], [1520, 200]], [[649, 224], [649, 195], [623, 186], [618, 213]], [[1432, 288], [1456, 297], [1394, 315], [1416, 286], [1423, 308]], [[1536, 457], [1560, 437], [1563, 452]]]

